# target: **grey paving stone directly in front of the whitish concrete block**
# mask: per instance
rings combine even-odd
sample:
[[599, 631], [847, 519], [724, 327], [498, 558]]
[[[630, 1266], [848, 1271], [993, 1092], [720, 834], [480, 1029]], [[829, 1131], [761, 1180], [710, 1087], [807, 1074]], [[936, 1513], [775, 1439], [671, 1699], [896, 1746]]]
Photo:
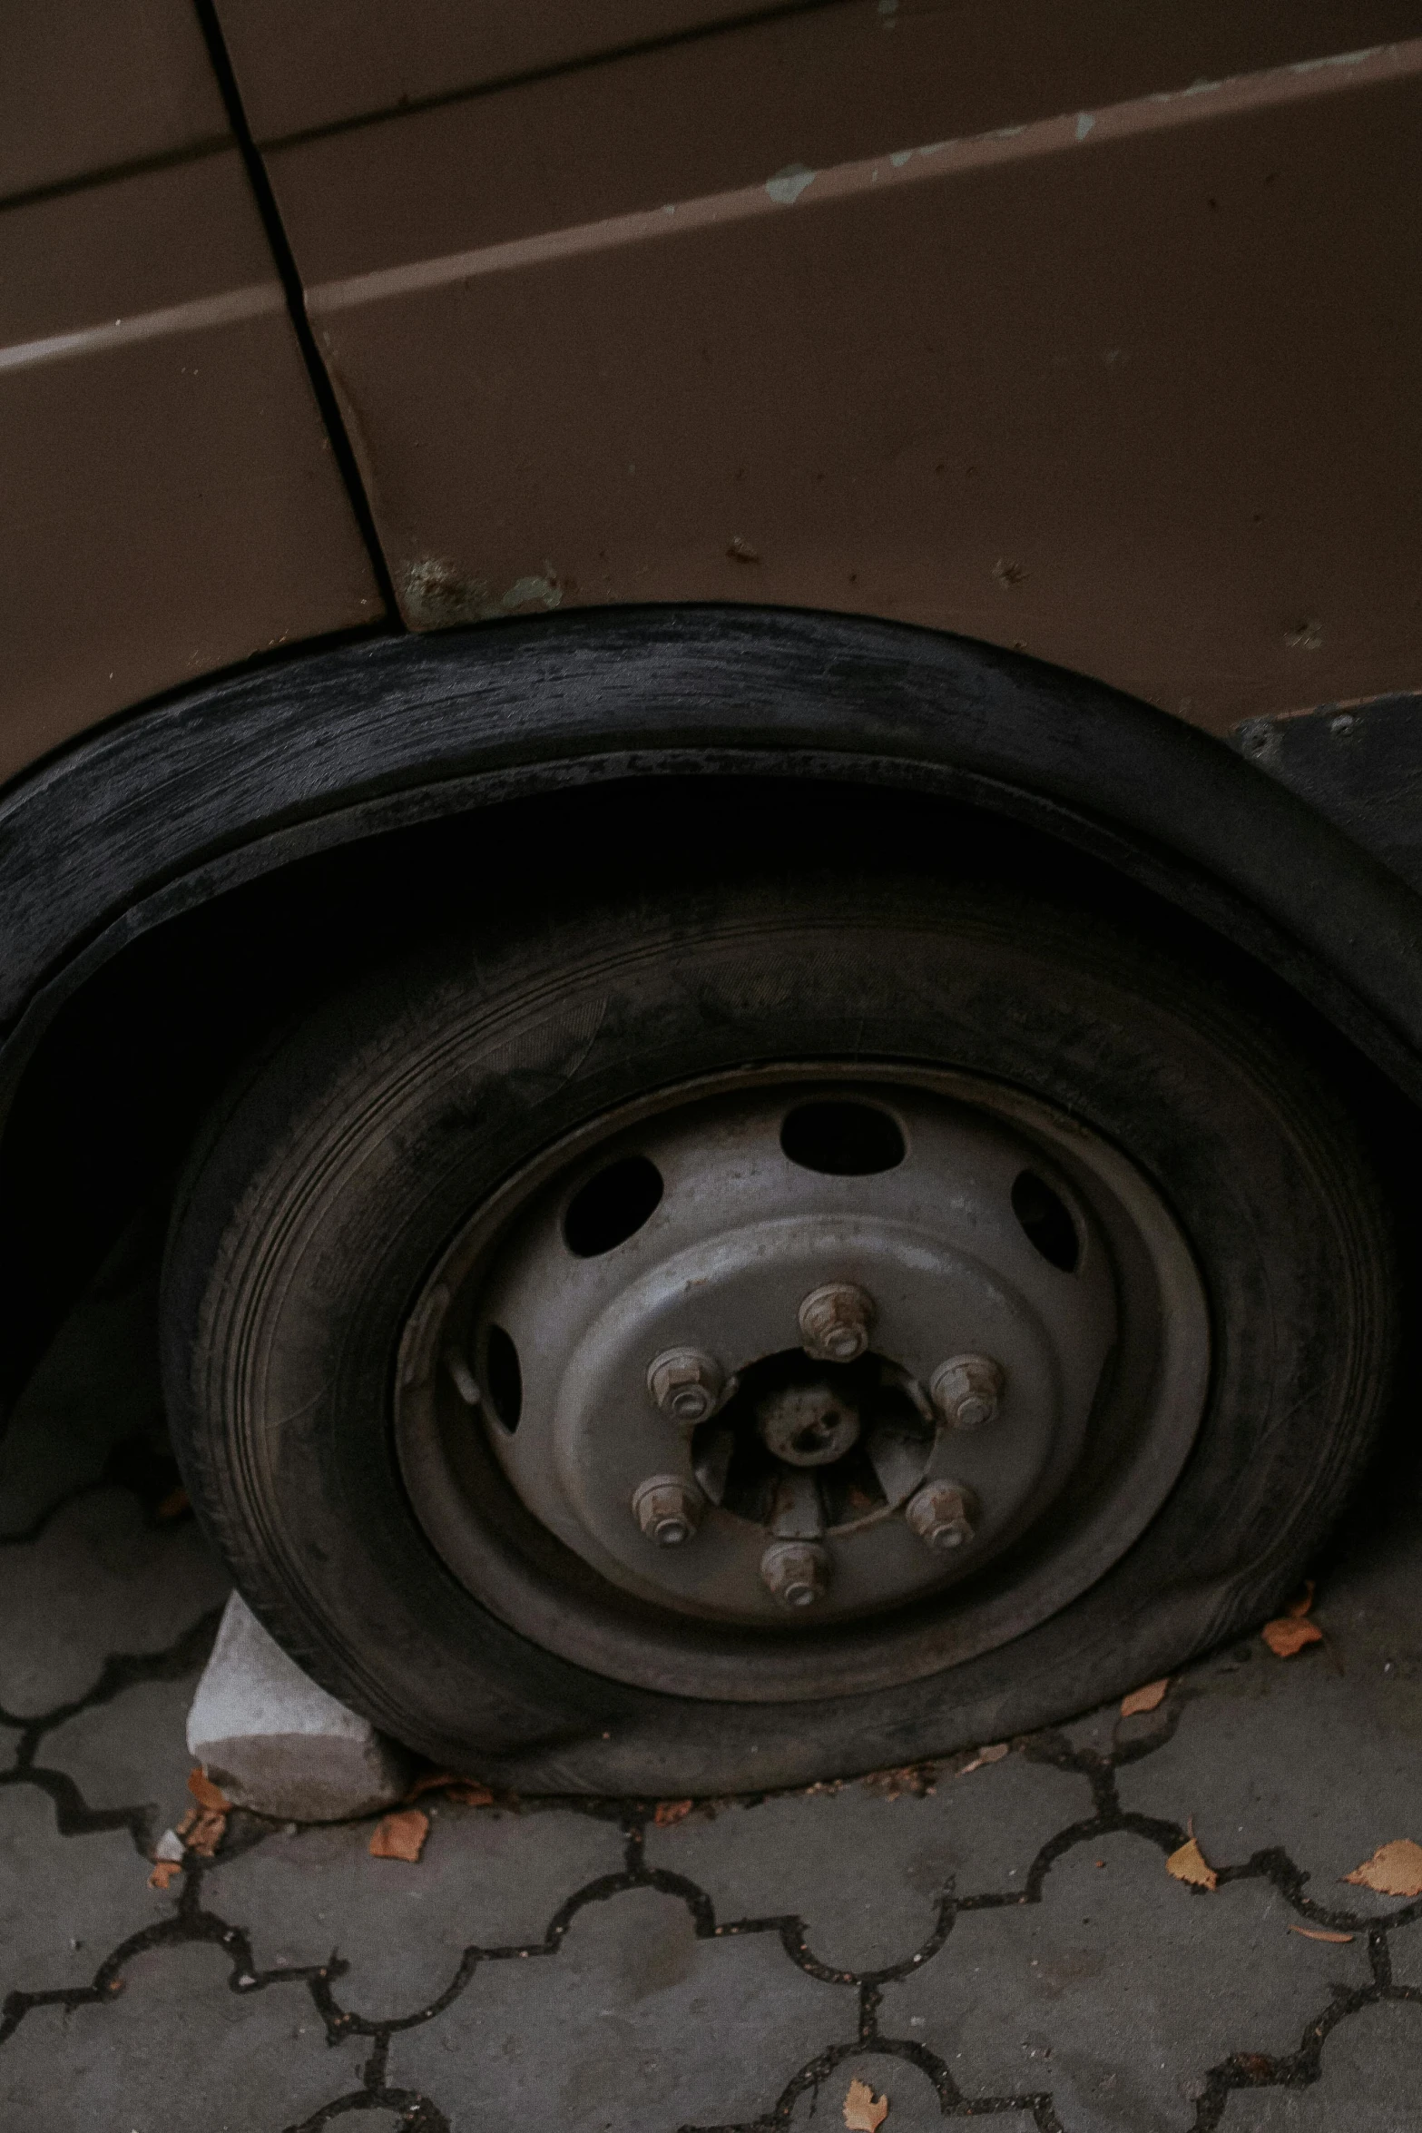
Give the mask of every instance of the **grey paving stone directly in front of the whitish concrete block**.
[[424, 1800], [416, 1866], [373, 1860], [371, 1822], [273, 1834], [207, 1879], [207, 1903], [245, 1926], [258, 1964], [350, 1962], [343, 2007], [386, 2020], [429, 2005], [465, 1947], [542, 1941], [554, 1911], [623, 1869], [616, 1824], [582, 1813], [503, 1813]]

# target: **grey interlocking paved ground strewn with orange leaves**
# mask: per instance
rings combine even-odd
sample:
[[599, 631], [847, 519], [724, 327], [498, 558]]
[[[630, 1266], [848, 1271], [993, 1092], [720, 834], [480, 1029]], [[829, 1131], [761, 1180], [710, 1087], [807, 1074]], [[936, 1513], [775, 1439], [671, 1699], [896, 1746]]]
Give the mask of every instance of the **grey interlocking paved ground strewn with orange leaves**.
[[[1422, 1901], [1339, 1879], [1422, 1839], [1416, 1476], [1324, 1566], [1324, 1647], [930, 1790], [431, 1798], [418, 1866], [232, 1815], [156, 1892], [224, 1578], [162, 1514], [132, 1303], [119, 1265], [0, 1450], [6, 2129], [836, 2133], [851, 2078], [885, 2133], [1422, 2129]], [[1164, 1869], [1190, 1819], [1213, 1894]]]

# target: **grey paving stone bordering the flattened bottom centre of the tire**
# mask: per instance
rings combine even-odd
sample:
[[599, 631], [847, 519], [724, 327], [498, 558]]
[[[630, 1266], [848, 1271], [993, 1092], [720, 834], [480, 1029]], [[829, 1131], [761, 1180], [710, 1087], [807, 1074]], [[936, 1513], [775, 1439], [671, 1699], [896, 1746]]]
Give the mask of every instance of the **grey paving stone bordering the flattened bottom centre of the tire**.
[[927, 1939], [949, 1883], [1025, 1881], [1040, 1845], [1089, 1809], [1081, 1777], [1015, 1753], [925, 1796], [855, 1783], [648, 1828], [646, 1858], [697, 1881], [718, 1920], [793, 1913], [821, 1962], [878, 1969]]

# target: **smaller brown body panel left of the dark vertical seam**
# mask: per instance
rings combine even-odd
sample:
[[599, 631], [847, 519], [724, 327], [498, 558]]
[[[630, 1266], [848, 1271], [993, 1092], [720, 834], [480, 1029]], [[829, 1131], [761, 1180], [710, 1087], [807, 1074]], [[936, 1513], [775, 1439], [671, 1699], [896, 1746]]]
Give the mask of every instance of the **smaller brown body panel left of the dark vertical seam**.
[[[188, 79], [156, 23], [128, 11], [122, 85], [145, 51]], [[224, 128], [211, 70], [198, 154], [168, 160], [162, 96], [147, 117], [96, 149], [153, 169], [0, 213], [0, 779], [156, 691], [379, 614], [241, 158], [203, 147]]]

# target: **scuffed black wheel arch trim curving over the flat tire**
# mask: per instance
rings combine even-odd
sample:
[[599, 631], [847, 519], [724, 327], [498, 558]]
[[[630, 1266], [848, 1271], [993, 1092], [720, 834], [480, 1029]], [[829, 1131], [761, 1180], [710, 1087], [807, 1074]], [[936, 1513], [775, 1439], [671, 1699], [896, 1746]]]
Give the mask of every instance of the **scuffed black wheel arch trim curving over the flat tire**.
[[[1422, 1096], [1418, 896], [1266, 772], [1098, 683], [906, 625], [759, 608], [316, 651], [136, 710], [0, 800], [0, 1252], [17, 1280], [45, 1154], [79, 1150], [68, 1207], [41, 1220], [53, 1278], [30, 1278], [11, 1318], [11, 1391], [132, 1205], [134, 1177], [96, 1184], [94, 1152], [85, 1184], [75, 1141], [96, 1047], [122, 1094], [109, 1032], [126, 1013], [164, 1017], [177, 1077], [209, 1088], [222, 1058], [207, 1039], [190, 1058], [177, 988], [194, 958], [241, 962], [243, 915], [262, 913], [254, 939], [288, 939], [294, 973], [303, 913], [324, 898], [328, 919], [356, 872], [392, 879], [431, 825], [667, 776], [849, 781], [1017, 821], [1243, 949]], [[232, 1003], [215, 1049], [241, 1041]]]

